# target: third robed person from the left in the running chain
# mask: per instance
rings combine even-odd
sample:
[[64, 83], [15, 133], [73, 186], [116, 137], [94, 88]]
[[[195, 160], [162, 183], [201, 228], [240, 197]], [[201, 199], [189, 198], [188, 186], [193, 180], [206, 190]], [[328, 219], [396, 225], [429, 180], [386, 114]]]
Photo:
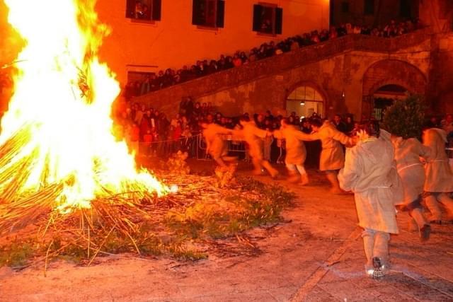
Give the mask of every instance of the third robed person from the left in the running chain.
[[300, 181], [301, 185], [306, 185], [309, 183], [309, 177], [304, 168], [306, 149], [303, 141], [309, 139], [309, 134], [301, 132], [285, 118], [280, 123], [280, 129], [274, 130], [273, 136], [286, 141], [285, 164], [290, 176], [289, 181]]

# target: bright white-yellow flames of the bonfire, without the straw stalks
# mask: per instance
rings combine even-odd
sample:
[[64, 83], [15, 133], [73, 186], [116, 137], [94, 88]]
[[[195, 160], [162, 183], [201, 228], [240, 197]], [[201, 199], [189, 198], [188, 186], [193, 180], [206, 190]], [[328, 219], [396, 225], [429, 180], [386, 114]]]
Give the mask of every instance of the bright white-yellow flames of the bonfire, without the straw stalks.
[[[125, 192], [131, 184], [166, 194], [168, 187], [147, 171], [137, 172], [127, 145], [111, 132], [111, 105], [120, 87], [108, 66], [98, 61], [108, 28], [98, 23], [96, 1], [4, 1], [8, 22], [26, 45], [17, 58], [0, 143], [31, 124], [31, 140], [11, 165], [38, 149], [33, 170], [18, 190], [40, 190], [42, 172], [48, 169], [49, 183], [69, 176], [74, 180], [66, 182], [56, 201], [61, 211], [88, 208], [105, 192]], [[8, 166], [0, 167], [0, 173]]]

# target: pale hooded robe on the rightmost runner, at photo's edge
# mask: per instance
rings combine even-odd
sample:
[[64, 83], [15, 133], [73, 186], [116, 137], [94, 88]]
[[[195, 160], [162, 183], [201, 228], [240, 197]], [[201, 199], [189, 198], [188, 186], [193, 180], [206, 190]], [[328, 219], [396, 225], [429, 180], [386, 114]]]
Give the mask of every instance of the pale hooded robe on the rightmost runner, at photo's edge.
[[442, 129], [431, 128], [423, 133], [423, 145], [431, 149], [425, 164], [426, 192], [453, 192], [453, 173], [445, 153], [446, 142], [447, 132]]

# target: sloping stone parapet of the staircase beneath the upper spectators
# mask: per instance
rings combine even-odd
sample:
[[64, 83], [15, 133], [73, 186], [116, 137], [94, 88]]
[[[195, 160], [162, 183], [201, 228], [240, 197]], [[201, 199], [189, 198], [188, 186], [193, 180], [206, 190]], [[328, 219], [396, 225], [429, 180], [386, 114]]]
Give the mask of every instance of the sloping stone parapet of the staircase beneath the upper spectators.
[[178, 110], [180, 101], [189, 96], [193, 100], [197, 100], [205, 95], [329, 59], [345, 52], [363, 51], [390, 54], [429, 40], [430, 34], [430, 28], [425, 28], [394, 38], [346, 35], [147, 93], [134, 98], [134, 102], [159, 108], [163, 112], [172, 114]]

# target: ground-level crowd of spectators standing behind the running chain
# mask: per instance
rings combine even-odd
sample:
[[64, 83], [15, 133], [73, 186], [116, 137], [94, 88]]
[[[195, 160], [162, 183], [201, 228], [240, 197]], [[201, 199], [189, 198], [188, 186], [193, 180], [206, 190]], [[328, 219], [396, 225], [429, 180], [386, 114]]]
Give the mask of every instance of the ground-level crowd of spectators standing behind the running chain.
[[[263, 113], [243, 113], [235, 117], [227, 117], [218, 112], [210, 103], [193, 103], [190, 98], [180, 103], [180, 110], [174, 117], [166, 117], [164, 112], [159, 112], [156, 108], [147, 108], [145, 105], [137, 103], [127, 103], [127, 107], [122, 108], [115, 121], [115, 135], [124, 137], [128, 144], [134, 149], [135, 153], [143, 156], [159, 156], [166, 158], [177, 151], [187, 151], [190, 157], [204, 156], [202, 146], [200, 146], [200, 122], [214, 122], [229, 129], [241, 129], [239, 120], [242, 116], [248, 116], [255, 120], [258, 127], [273, 131], [280, 127], [283, 115], [273, 115], [269, 110]], [[319, 117], [314, 113], [311, 117]], [[291, 112], [287, 117], [290, 124], [299, 127], [302, 132], [311, 133], [309, 118], [301, 118], [296, 112]], [[346, 117], [343, 122], [340, 115], [333, 119], [336, 127], [350, 135], [355, 134], [358, 129], [352, 120], [352, 115]], [[355, 127], [357, 126], [357, 127]], [[236, 144], [236, 149], [240, 152], [236, 155], [247, 159], [246, 146], [242, 142], [232, 141]], [[307, 143], [307, 149], [312, 153], [319, 153], [319, 143]], [[276, 162], [282, 161], [284, 156], [284, 144], [282, 141], [267, 139], [264, 141], [264, 154], [266, 159]], [[309, 154], [309, 159], [310, 161]], [[312, 160], [314, 165], [317, 163], [316, 155]]]

